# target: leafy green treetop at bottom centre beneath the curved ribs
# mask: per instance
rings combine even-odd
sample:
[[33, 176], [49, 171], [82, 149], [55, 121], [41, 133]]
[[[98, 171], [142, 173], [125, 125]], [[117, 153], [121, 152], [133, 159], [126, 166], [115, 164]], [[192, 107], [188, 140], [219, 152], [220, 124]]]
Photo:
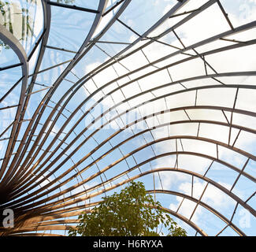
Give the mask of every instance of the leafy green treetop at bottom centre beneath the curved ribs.
[[141, 182], [131, 182], [119, 194], [102, 199], [91, 213], [79, 216], [80, 222], [69, 229], [69, 236], [158, 236], [154, 228], [159, 224], [168, 228], [171, 236], [187, 236]]

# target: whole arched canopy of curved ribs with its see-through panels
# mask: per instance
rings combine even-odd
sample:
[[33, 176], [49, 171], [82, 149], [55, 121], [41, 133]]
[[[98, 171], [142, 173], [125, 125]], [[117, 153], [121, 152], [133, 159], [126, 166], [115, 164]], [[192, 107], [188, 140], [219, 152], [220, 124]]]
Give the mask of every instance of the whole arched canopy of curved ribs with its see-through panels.
[[0, 235], [67, 235], [132, 180], [189, 235], [255, 235], [256, 20], [228, 1], [95, 2], [35, 1], [30, 49], [0, 25], [18, 59], [0, 69]]

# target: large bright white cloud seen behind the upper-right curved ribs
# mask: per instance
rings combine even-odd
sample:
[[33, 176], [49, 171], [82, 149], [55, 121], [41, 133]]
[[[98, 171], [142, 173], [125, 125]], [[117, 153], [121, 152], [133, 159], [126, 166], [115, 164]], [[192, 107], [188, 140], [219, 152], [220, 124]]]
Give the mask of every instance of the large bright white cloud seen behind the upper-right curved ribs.
[[[202, 1], [202, 2], [191, 1], [191, 3], [187, 4], [184, 8], [186, 10], [195, 9], [200, 4], [202, 4], [204, 2], [206, 2], [206, 1]], [[157, 4], [157, 2], [156, 2], [156, 4]], [[169, 7], [170, 6], [167, 6], [166, 8], [169, 8]], [[184, 12], [184, 9], [180, 9], [180, 13], [182, 13], [182, 12]], [[254, 13], [254, 9], [252, 9], [251, 12]], [[244, 18], [244, 17], [241, 17], [239, 15], [235, 16], [235, 14], [232, 14], [232, 20], [235, 20], [234, 24], [240, 24], [241, 18]], [[251, 14], [246, 18], [247, 18], [247, 21], [250, 21]], [[161, 31], [165, 31], [165, 29], [169, 28], [173, 24], [174, 21], [176, 22], [176, 19], [169, 19], [167, 22], [162, 24], [161, 27], [158, 28], [158, 33], [160, 33]], [[133, 20], [131, 20], [130, 22], [133, 22]], [[192, 43], [196, 43], [202, 39], [207, 39], [210, 36], [217, 35], [222, 31], [228, 31], [228, 29], [229, 29], [229, 26], [228, 26], [227, 21], [224, 18], [223, 13], [221, 13], [221, 10], [217, 6], [217, 4], [214, 4], [209, 9], [206, 9], [205, 11], [200, 13], [197, 17], [192, 18], [189, 22], [187, 22], [187, 24], [184, 24], [180, 28], [177, 28], [176, 33], [178, 35], [180, 35], [180, 38], [183, 40], [184, 44], [186, 46], [188, 46], [188, 45], [191, 45]], [[252, 31], [247, 33], [247, 36], [251, 36], [251, 32]], [[243, 32], [240, 34], [243, 34]], [[169, 40], [169, 39], [171, 39], [171, 40]], [[175, 39], [175, 40], [173, 40], [173, 39]], [[246, 39], [246, 37], [244, 37], [244, 39]], [[133, 39], [130, 38], [130, 40], [133, 41], [134, 38]], [[164, 41], [165, 41], [165, 43], [171, 43], [175, 46], [182, 47], [182, 45], [179, 43], [178, 39], [175, 38], [174, 35], [165, 36]], [[212, 50], [213, 48], [217, 48], [219, 46], [226, 46], [226, 45], [230, 45], [230, 44], [232, 44], [232, 43], [217, 41], [214, 43], [207, 44], [205, 46], [201, 46], [200, 48], [198, 48], [196, 50], [198, 50], [199, 52], [202, 52], [202, 51], [206, 51], [206, 50]], [[147, 57], [148, 57], [148, 59], [150, 59], [150, 61], [153, 61], [157, 58], [163, 57], [166, 54], [170, 54], [173, 51], [175, 51], [175, 49], [172, 49], [169, 46], [165, 46], [160, 43], [153, 43], [150, 46], [148, 46], [147, 48], [143, 49], [144, 54], [147, 55]], [[195, 54], [195, 52], [193, 52], [193, 51], [191, 51], [190, 53]], [[241, 59], [244, 58], [245, 55], [247, 55], [246, 61], [244, 61], [244, 64], [241, 65]], [[243, 67], [244, 70], [247, 70], [247, 69], [251, 70], [251, 69], [254, 69], [254, 65], [256, 65], [256, 61], [255, 61], [255, 57], [250, 57], [250, 55], [251, 55], [251, 47], [249, 46], [247, 48], [246, 47], [241, 48], [236, 51], [230, 50], [224, 54], [216, 54], [213, 56], [207, 56], [206, 60], [209, 61], [210, 65], [212, 65], [214, 69], [217, 69], [218, 72], [237, 71], [237, 70], [240, 70], [241, 67]], [[186, 57], [186, 56], [183, 56], [183, 57]], [[239, 61], [238, 61], [238, 59], [239, 59]], [[172, 59], [170, 59], [170, 61], [172, 61]], [[128, 69], [137, 69], [140, 66], [147, 65], [147, 63], [148, 63], [147, 58], [143, 55], [143, 53], [141, 51], [132, 55], [131, 57], [128, 57], [125, 60], [121, 61], [121, 64], [124, 65], [125, 67], [127, 67]], [[165, 63], [167, 64], [167, 62], [165, 62]], [[92, 63], [91, 65], [87, 65], [86, 72], [90, 72], [92, 69], [94, 69], [99, 64], [100, 64], [100, 62], [95, 62], [95, 63]], [[118, 64], [116, 64], [116, 65], [118, 65]], [[143, 71], [136, 73], [135, 75], [132, 75], [131, 78], [135, 78], [136, 76], [142, 75], [147, 71], [152, 71], [153, 69], [154, 69], [154, 67], [150, 66], [148, 69], [145, 69]], [[121, 70], [121, 68], [117, 69], [117, 72], [119, 72], [120, 70]], [[208, 71], [211, 72], [210, 68], [208, 68]], [[179, 80], [179, 79], [183, 79], [185, 77], [204, 75], [205, 69], [204, 69], [203, 61], [201, 59], [197, 59], [194, 61], [187, 61], [185, 64], [176, 65], [175, 67], [170, 68], [169, 72], [171, 73], [173, 80]], [[122, 72], [121, 74], [124, 74], [124, 72]], [[114, 76], [116, 76], [116, 73], [110, 67], [110, 68], [102, 71], [101, 73], [99, 73], [97, 76], [95, 76], [94, 80], [95, 80], [95, 83], [97, 83], [97, 85], [99, 87], [99, 86], [102, 86], [103, 84], [109, 82], [110, 80], [112, 80], [114, 78]], [[123, 80], [119, 80], [118, 82], [125, 83], [128, 81], [128, 78], [125, 76], [123, 78]], [[229, 78], [229, 80], [232, 80], [232, 78]], [[139, 80], [139, 85], [141, 86], [142, 90], [144, 91], [151, 87], [157, 87], [160, 84], [168, 83], [170, 81], [171, 80], [169, 79], [168, 72], [162, 71], [162, 72], [156, 73], [154, 75], [150, 75], [147, 78], [143, 78], [142, 80]], [[199, 82], [199, 85], [200, 84], [205, 85], [205, 84], [209, 84], [209, 83], [217, 84], [217, 82], [214, 82], [213, 80], [207, 80], [207, 81], [202, 80]], [[184, 83], [184, 85], [189, 86], [190, 83]], [[189, 86], [189, 87], [193, 87], [196, 85], [198, 85], [198, 81], [191, 82], [191, 86]], [[115, 87], [117, 87], [117, 84], [113, 83], [113, 84], [111, 84], [111, 88], [109, 90], [111, 90], [112, 88], [115, 88]], [[172, 87], [168, 87], [168, 88], [166, 88], [166, 90], [159, 89], [157, 91], [158, 95], [165, 94], [166, 91], [171, 91], [171, 88]], [[184, 89], [184, 87], [181, 87], [180, 85], [179, 86], [176, 85], [176, 90], [183, 90], [183, 89]], [[132, 95], [135, 95], [139, 91], [138, 83], [132, 83], [132, 84], [128, 85], [127, 87], [124, 87], [123, 90], [124, 90], [124, 95], [126, 98], [130, 97]], [[105, 93], [107, 93], [107, 88], [104, 89], [104, 91], [105, 91]], [[211, 89], [211, 90], [198, 91], [197, 105], [211, 105], [211, 106], [218, 105], [218, 106], [232, 107], [234, 98], [235, 98], [235, 94], [236, 94], [236, 90], [232, 90], [232, 89], [227, 89], [227, 90]], [[245, 96], [246, 95], [243, 94], [243, 97], [240, 96], [240, 99], [239, 99], [239, 101], [242, 101], [242, 100], [246, 101], [246, 102], [243, 102], [243, 106], [246, 106], [246, 104], [248, 102], [251, 103], [254, 100], [254, 96], [252, 96], [252, 98], [250, 98], [249, 101], [245, 98]], [[150, 97], [150, 96], [148, 96], [148, 97]], [[153, 98], [153, 97], [154, 96], [151, 95], [151, 98]], [[195, 92], [189, 93], [187, 96], [180, 95], [180, 97], [179, 98], [178, 97], [179, 97], [179, 95], [171, 96], [170, 98], [167, 98], [169, 108], [174, 108], [177, 106], [191, 106], [195, 102]], [[120, 91], [117, 91], [115, 94], [113, 94], [112, 98], [113, 98], [114, 102], [120, 102], [121, 100], [124, 99], [124, 97]], [[139, 97], [138, 99], [131, 101], [130, 104], [135, 105], [142, 101], [143, 101], [143, 98]], [[105, 109], [109, 108], [109, 106], [113, 106], [113, 101], [111, 98], [105, 99], [102, 102], [102, 105], [103, 105], [103, 109], [105, 110]], [[154, 106], [152, 106], [152, 104], [150, 104], [150, 106], [145, 106], [143, 109], [145, 109], [143, 111], [144, 113], [150, 114], [150, 113], [153, 113], [154, 110], [165, 109], [165, 103], [163, 102], [163, 100], [161, 100], [158, 102], [154, 102]], [[132, 112], [132, 114], [135, 114], [135, 113], [139, 114], [139, 113], [141, 113], [141, 111], [142, 111], [142, 109], [139, 109], [139, 110], [135, 109]], [[181, 112], [170, 113], [171, 119], [174, 121], [174, 120], [180, 120], [179, 118], [183, 117], [185, 120], [185, 118], [187, 118], [187, 117], [186, 117], [185, 113], [183, 113], [183, 114], [182, 113]], [[202, 118], [204, 120], [207, 120], [207, 119], [213, 120], [213, 117], [215, 117], [216, 120], [221, 120], [221, 121], [225, 122], [224, 115], [221, 113], [217, 113], [217, 112], [214, 114], [207, 110], [205, 110], [205, 111], [189, 110], [189, 111], [187, 111], [187, 113], [194, 120], [200, 120]], [[114, 115], [116, 115], [116, 113], [113, 113], [113, 116]], [[227, 113], [227, 115], [230, 120], [230, 114]], [[108, 118], [111, 118], [111, 117], [108, 116]], [[134, 117], [131, 117], [131, 118], [134, 118]], [[154, 120], [154, 122], [155, 122], [155, 120]], [[115, 124], [113, 122], [111, 124], [111, 127], [117, 129], [117, 124]], [[173, 126], [171, 135], [196, 135], [197, 129], [198, 129], [197, 124], [195, 124], [194, 126], [192, 126], [191, 124], [183, 124], [183, 125], [178, 124], [176, 127]], [[158, 131], [156, 131], [155, 133], [156, 133], [157, 138], [160, 135], [161, 136], [166, 135], [166, 132], [161, 132], [161, 128]], [[229, 133], [228, 127], [220, 127], [220, 126], [216, 126], [216, 125], [202, 124], [200, 131], [199, 131], [199, 136], [203, 136], [203, 137], [207, 137], [210, 139], [215, 139], [215, 140], [219, 140], [219, 141], [223, 141], [224, 143], [227, 143], [228, 142], [228, 133]], [[232, 139], [236, 138], [235, 133], [237, 133], [237, 132], [232, 131]], [[250, 143], [249, 139], [244, 139], [244, 141], [246, 141], [246, 143]], [[195, 152], [198, 152], [198, 153], [210, 154], [213, 157], [216, 157], [216, 155], [217, 155], [216, 146], [214, 144], [205, 143], [205, 142], [195, 142], [195, 141], [194, 141], [194, 143], [192, 141], [188, 141], [186, 143], [186, 140], [183, 140], [183, 143], [184, 143], [184, 150], [190, 150], [190, 151], [194, 150]], [[160, 148], [161, 151], [165, 151], [168, 149], [168, 146], [166, 146], [165, 143], [162, 143], [162, 144], [158, 145], [158, 148]], [[228, 159], [232, 159], [233, 155], [234, 155], [234, 153], [232, 153], [230, 151], [227, 151], [225, 153], [225, 150], [222, 150], [222, 152], [221, 152], [221, 157], [227, 156], [227, 157], [229, 157]], [[166, 166], [167, 164], [169, 164], [169, 161], [166, 162], [166, 159], [161, 159], [161, 160], [157, 161], [156, 167], [162, 166], [162, 165]], [[173, 158], [171, 158], [171, 160], [172, 159]], [[191, 161], [191, 160], [193, 160], [193, 161]], [[236, 164], [241, 165], [242, 163], [243, 163], [243, 161], [241, 161], [239, 157], [236, 157]], [[173, 160], [171, 161], [171, 164], [169, 164], [169, 165], [173, 166]], [[202, 159], [202, 158], [197, 159], [197, 158], [191, 158], [191, 157], [186, 157], [186, 158], [183, 157], [183, 158], [180, 158], [180, 165], [181, 165], [180, 168], [182, 168], [182, 166], [184, 166], [192, 171], [202, 173], [208, 167], [209, 161], [206, 159]], [[183, 176], [180, 176], [180, 175], [175, 176], [174, 179], [173, 179], [173, 176], [165, 176], [162, 174], [161, 174], [161, 176], [163, 178], [163, 181], [164, 181], [164, 184], [166, 185], [166, 187], [169, 187], [173, 183], [173, 181], [177, 182], [177, 181], [183, 179]]]

